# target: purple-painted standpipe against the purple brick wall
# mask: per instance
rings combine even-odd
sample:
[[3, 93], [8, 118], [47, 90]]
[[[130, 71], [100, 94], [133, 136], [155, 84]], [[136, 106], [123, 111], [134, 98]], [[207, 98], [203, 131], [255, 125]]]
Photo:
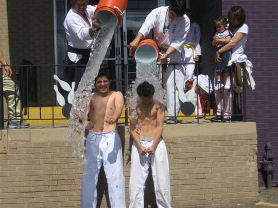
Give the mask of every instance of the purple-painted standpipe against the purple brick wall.
[[278, 184], [278, 181], [273, 181], [272, 176], [274, 172], [273, 159], [274, 154], [272, 153], [272, 145], [270, 142], [265, 143], [266, 153], [264, 154], [263, 160], [258, 161], [259, 164], [262, 164], [264, 171], [267, 173], [267, 188], [272, 188], [272, 185]]

